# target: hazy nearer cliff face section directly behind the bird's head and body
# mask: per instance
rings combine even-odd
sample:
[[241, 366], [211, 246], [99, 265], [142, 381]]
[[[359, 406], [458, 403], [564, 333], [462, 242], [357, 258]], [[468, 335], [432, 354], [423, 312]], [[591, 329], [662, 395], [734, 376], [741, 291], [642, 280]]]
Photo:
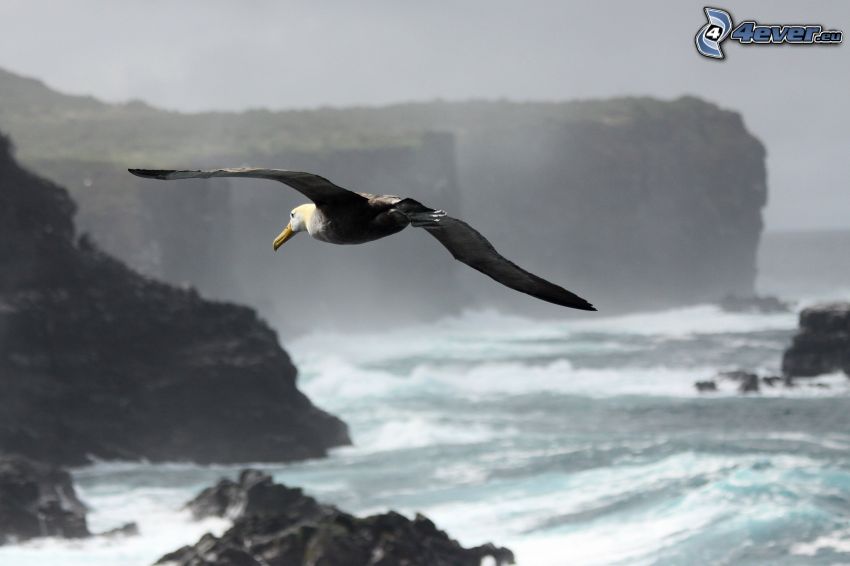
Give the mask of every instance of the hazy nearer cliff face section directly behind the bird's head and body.
[[[416, 143], [394, 147], [213, 155], [182, 166], [286, 164], [353, 189], [414, 194], [458, 210], [454, 152], [451, 134], [428, 133]], [[423, 294], [424, 289], [451, 287], [456, 273], [447, 252], [424, 233], [344, 248], [303, 236], [275, 254], [274, 236], [286, 225], [289, 211], [306, 202], [278, 183], [159, 183], [108, 162], [30, 163], [70, 185], [81, 203], [80, 226], [109, 253], [146, 275], [251, 304], [286, 330], [312, 330], [343, 319], [358, 321], [350, 328], [419, 321], [456, 311], [462, 302], [458, 292]], [[392, 312], [376, 317], [375, 305], [387, 300]]]

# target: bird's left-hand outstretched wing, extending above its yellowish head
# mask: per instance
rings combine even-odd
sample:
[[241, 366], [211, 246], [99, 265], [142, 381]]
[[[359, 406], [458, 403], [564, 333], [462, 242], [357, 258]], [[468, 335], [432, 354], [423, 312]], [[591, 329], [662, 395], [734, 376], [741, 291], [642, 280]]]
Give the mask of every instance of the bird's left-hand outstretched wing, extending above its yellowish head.
[[324, 177], [301, 171], [287, 171], [286, 169], [239, 167], [206, 171], [179, 171], [174, 169], [128, 169], [128, 171], [138, 177], [168, 181], [173, 179], [208, 179], [210, 177], [269, 179], [289, 185], [320, 207], [323, 205], [349, 205], [366, 202], [366, 199], [361, 195], [334, 185]]

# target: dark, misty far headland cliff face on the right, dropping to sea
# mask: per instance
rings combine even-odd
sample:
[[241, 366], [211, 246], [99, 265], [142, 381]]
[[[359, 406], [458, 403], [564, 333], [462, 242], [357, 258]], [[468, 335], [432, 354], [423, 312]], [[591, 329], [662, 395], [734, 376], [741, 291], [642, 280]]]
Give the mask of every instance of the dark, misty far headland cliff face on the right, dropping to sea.
[[466, 216], [603, 311], [752, 295], [762, 145], [740, 115], [696, 99], [618, 103], [602, 119], [462, 136]]

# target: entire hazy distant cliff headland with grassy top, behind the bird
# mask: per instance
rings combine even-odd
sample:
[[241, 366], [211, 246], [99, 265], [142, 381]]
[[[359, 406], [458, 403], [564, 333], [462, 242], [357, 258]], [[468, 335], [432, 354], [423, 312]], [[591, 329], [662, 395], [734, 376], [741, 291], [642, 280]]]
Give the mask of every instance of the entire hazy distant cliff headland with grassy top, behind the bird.
[[561, 311], [455, 265], [415, 230], [345, 248], [300, 238], [274, 255], [300, 195], [248, 181], [163, 186], [125, 167], [285, 167], [410, 195], [605, 312], [753, 292], [764, 148], [740, 115], [695, 98], [184, 115], [62, 96], [0, 72], [0, 127], [20, 133], [28, 163], [70, 185], [96, 241], [145, 273], [246, 301], [280, 328], [466, 306]]

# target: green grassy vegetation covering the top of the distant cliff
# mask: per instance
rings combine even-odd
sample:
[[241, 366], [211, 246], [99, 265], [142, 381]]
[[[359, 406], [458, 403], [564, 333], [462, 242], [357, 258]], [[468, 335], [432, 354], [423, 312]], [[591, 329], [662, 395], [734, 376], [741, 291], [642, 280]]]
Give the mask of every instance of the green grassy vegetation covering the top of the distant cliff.
[[171, 166], [210, 156], [249, 158], [281, 152], [410, 146], [425, 131], [464, 132], [592, 121], [616, 125], [662, 116], [713, 113], [696, 98], [672, 102], [617, 98], [572, 102], [469, 101], [380, 108], [180, 113], [143, 102], [107, 104], [51, 90], [0, 69], [0, 127], [24, 161], [72, 159]]

